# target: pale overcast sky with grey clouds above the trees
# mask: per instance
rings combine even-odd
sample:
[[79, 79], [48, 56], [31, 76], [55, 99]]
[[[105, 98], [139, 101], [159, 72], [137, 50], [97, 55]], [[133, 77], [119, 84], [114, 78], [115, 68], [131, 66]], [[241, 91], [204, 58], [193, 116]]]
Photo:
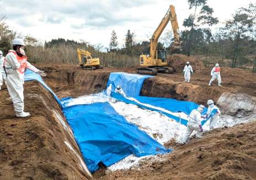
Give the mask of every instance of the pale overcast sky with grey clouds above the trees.
[[[255, 1], [209, 0], [208, 5], [214, 8], [213, 15], [224, 22], [236, 9]], [[191, 13], [186, 0], [2, 0], [0, 4], [7, 24], [24, 36], [41, 41], [58, 37], [82, 39], [104, 46], [108, 46], [112, 30], [118, 35], [119, 46], [128, 29], [135, 32], [137, 42], [148, 40], [170, 4], [175, 6], [180, 30]]]

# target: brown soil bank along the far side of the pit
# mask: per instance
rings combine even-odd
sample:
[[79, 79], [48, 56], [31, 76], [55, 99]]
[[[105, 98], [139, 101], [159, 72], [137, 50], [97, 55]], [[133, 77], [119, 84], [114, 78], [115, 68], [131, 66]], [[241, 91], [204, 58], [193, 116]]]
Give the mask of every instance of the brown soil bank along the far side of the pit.
[[[185, 62], [186, 59], [183, 61]], [[191, 62], [193, 65], [194, 61]], [[183, 66], [183, 64], [181, 65]], [[65, 64], [37, 66], [47, 72], [48, 76], [45, 81], [60, 98], [100, 92], [106, 88], [110, 72], [135, 73], [136, 69], [136, 67], [104, 68], [88, 71], [82, 70], [79, 66]], [[191, 75], [190, 83], [184, 82], [182, 72], [158, 74], [154, 78], [145, 80], [141, 95], [190, 100], [200, 104], [205, 104], [208, 99], [213, 99], [217, 102], [224, 92], [245, 93], [256, 97], [256, 75], [252, 74], [252, 72], [222, 67], [223, 87], [218, 87], [216, 81], [209, 87], [210, 71], [211, 68], [204, 68], [201, 64], [198, 71]]]

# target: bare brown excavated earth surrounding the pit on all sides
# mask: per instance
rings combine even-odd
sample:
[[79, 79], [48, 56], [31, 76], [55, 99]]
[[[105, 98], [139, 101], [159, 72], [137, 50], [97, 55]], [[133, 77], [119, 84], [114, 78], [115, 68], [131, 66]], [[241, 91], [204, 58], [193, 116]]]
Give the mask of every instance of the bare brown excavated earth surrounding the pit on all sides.
[[[59, 98], [100, 92], [110, 72], [135, 73], [132, 68], [82, 70], [77, 65], [36, 64], [48, 75], [47, 85]], [[183, 66], [184, 67], [184, 66]], [[201, 68], [184, 82], [183, 74], [158, 74], [145, 81], [141, 95], [191, 100], [205, 104], [224, 92], [256, 97], [255, 75], [250, 71], [222, 67], [222, 85], [209, 87], [211, 67]], [[63, 130], [60, 106], [38, 82], [25, 83], [25, 110], [31, 117], [17, 119], [6, 87], [0, 91], [0, 179], [90, 179], [81, 162], [63, 142], [79, 153], [70, 133]], [[58, 116], [58, 117], [57, 117]], [[94, 173], [95, 179], [256, 179], [256, 122], [214, 130], [202, 139], [174, 147], [161, 162], [145, 162], [128, 171]]]

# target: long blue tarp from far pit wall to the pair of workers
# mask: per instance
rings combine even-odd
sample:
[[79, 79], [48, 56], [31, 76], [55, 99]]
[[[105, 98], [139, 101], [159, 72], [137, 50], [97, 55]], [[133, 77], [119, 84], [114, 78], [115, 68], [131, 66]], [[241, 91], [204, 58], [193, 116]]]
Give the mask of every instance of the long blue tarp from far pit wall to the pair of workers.
[[[183, 125], [186, 125], [188, 122], [187, 120], [180, 119], [177, 116], [168, 114], [167, 112], [158, 110], [156, 108], [150, 108], [143, 104], [149, 104], [157, 108], [166, 109], [171, 112], [184, 112], [186, 115], [189, 115], [190, 112], [193, 109], [198, 108], [199, 105], [194, 102], [186, 102], [186, 101], [176, 100], [172, 98], [155, 98], [155, 97], [140, 96], [143, 82], [146, 78], [149, 78], [149, 77], [153, 77], [153, 76], [127, 74], [125, 72], [112, 72], [110, 74], [109, 81], [108, 81], [108, 86], [110, 84], [112, 85], [111, 96], [125, 103], [136, 104], [145, 109], [161, 112], [162, 114], [167, 115], [168, 117], [178, 122], [181, 122]], [[114, 93], [115, 87], [118, 85], [122, 87], [124, 93], [126, 94], [126, 97], [133, 97], [140, 103], [134, 102], [130, 98], [125, 98], [119, 94]], [[206, 111], [207, 109], [205, 108], [204, 112], [202, 112], [202, 115], [206, 114]], [[205, 122], [206, 121], [202, 121], [202, 125]]]

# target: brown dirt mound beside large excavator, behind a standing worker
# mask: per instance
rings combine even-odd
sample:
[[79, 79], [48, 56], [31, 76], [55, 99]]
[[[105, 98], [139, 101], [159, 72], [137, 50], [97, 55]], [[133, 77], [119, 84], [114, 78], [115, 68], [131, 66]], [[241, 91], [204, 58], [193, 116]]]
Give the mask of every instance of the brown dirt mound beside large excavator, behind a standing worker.
[[173, 54], [167, 57], [168, 66], [173, 67], [175, 72], [183, 72], [186, 62], [189, 61], [195, 72], [204, 70], [204, 64], [199, 59], [188, 57], [184, 54]]

